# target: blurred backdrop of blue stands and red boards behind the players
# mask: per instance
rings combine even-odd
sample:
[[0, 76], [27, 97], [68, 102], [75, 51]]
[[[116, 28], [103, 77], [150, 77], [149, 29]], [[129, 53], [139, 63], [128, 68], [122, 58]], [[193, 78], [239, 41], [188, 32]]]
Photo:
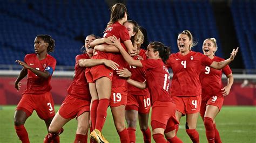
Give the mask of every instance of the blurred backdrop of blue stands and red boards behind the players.
[[[206, 38], [217, 39], [217, 56], [227, 59], [233, 48], [239, 53], [230, 64], [235, 82], [224, 105], [256, 105], [256, 1], [230, 0], [127, 0], [127, 1], [0, 1], [0, 105], [17, 104], [25, 88], [17, 92], [14, 82], [22, 69], [15, 60], [34, 53], [33, 41], [38, 34], [49, 34], [56, 41], [57, 60], [52, 94], [62, 103], [72, 81], [75, 56], [80, 54], [86, 35], [103, 36], [110, 19], [110, 6], [124, 3], [129, 19], [147, 30], [149, 41], [161, 41], [178, 52], [177, 37], [190, 30], [203, 52]], [[223, 78], [224, 85], [226, 78]]]

